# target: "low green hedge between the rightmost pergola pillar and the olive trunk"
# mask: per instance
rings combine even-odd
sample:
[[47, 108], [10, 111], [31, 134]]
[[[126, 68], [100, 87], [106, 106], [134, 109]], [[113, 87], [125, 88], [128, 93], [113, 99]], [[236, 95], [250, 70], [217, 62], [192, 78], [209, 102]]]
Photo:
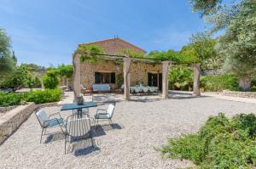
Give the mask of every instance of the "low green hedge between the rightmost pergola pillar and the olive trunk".
[[201, 76], [201, 88], [204, 91], [221, 92], [223, 90], [239, 90], [237, 77], [234, 75]]

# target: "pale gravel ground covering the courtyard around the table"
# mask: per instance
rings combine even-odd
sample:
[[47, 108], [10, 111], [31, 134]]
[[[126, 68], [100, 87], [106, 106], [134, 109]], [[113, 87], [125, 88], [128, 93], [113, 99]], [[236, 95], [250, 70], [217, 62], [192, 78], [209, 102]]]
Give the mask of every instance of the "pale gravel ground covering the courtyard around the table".
[[[175, 98], [175, 97], [174, 97]], [[100, 106], [101, 108], [107, 105]], [[98, 106], [99, 108], [99, 106]], [[50, 113], [60, 107], [44, 108]], [[90, 115], [96, 108], [90, 109]], [[235, 115], [256, 112], [256, 104], [212, 97], [180, 97], [168, 100], [120, 101], [113, 115], [114, 129], [103, 127], [90, 140], [73, 144], [64, 155], [61, 134], [44, 137], [39, 144], [40, 127], [35, 115], [0, 146], [0, 168], [180, 168], [189, 161], [163, 159], [154, 148], [166, 144], [167, 138], [196, 132], [210, 115], [225, 112]], [[69, 115], [71, 112], [61, 112]], [[58, 130], [56, 128], [55, 130]]]

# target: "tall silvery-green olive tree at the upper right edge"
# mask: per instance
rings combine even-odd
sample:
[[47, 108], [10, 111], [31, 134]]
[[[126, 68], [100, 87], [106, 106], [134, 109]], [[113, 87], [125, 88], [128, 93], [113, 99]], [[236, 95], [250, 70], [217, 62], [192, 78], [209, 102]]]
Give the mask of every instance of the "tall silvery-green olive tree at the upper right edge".
[[200, 12], [212, 32], [225, 28], [216, 48], [224, 56], [224, 70], [239, 76], [239, 86], [249, 90], [256, 74], [256, 1], [239, 0], [229, 4], [222, 1], [192, 0], [195, 11]]

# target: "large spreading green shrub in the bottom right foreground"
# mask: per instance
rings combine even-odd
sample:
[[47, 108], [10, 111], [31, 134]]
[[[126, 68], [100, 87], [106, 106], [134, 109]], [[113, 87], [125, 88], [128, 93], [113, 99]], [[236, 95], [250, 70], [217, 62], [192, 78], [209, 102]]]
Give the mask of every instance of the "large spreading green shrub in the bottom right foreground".
[[161, 153], [204, 169], [255, 167], [256, 116], [240, 114], [230, 120], [223, 113], [212, 116], [199, 132], [170, 138]]

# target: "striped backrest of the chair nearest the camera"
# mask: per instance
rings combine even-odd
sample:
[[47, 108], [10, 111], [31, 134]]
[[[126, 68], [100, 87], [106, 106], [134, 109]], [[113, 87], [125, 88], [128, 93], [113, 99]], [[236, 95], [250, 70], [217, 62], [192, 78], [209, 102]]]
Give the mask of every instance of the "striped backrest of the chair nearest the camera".
[[67, 117], [66, 132], [72, 137], [82, 137], [90, 132], [90, 118], [88, 115], [70, 115]]

